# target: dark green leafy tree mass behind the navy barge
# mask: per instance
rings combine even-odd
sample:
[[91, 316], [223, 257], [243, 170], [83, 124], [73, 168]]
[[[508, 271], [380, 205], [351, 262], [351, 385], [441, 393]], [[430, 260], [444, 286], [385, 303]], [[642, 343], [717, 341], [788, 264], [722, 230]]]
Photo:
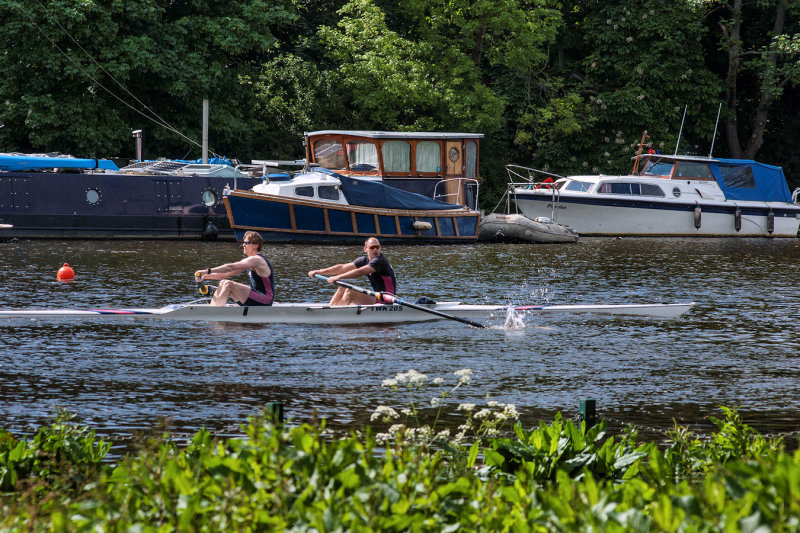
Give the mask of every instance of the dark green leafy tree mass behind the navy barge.
[[246, 151], [264, 128], [243, 76], [293, 17], [289, 2], [263, 0], [0, 0], [0, 143], [132, 155], [131, 130], [145, 129], [164, 151], [151, 156], [197, 157], [209, 98], [212, 149]]

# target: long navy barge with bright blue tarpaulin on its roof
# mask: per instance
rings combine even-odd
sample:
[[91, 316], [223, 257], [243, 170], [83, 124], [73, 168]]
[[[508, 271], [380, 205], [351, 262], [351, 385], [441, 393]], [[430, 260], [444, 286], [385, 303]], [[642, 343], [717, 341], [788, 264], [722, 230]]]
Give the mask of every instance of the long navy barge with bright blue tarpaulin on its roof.
[[230, 161], [0, 154], [0, 238], [233, 239], [222, 193], [261, 182]]

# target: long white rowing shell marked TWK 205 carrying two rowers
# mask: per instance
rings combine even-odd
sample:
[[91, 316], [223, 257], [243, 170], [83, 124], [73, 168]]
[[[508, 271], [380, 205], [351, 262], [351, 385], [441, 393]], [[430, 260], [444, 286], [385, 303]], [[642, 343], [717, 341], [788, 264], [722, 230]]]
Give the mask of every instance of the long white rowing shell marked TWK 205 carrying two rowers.
[[[616, 305], [466, 305], [459, 302], [432, 304], [430, 309], [471, 320], [505, 319], [509, 311], [529, 313], [597, 313], [604, 315], [647, 318], [677, 318], [692, 308], [691, 303], [616, 304]], [[176, 304], [158, 309], [26, 309], [0, 310], [2, 318], [48, 319], [115, 319], [150, 318], [168, 320], [200, 320], [205, 322], [238, 322], [253, 324], [392, 324], [427, 322], [440, 317], [404, 305], [347, 305], [275, 303], [271, 306]]]

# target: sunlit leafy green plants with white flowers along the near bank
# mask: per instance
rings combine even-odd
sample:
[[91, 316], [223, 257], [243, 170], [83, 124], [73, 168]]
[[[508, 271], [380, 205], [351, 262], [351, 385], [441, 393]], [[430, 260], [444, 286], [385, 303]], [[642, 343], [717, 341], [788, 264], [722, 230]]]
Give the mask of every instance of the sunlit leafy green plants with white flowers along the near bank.
[[[466, 371], [462, 371], [466, 372]], [[384, 385], [409, 390], [421, 374]], [[433, 401], [438, 413], [446, 389]], [[415, 381], [416, 380], [416, 381]], [[434, 380], [435, 382], [436, 380]], [[379, 407], [389, 431], [332, 438], [324, 423], [256, 417], [246, 436], [200, 431], [109, 461], [109, 443], [60, 413], [33, 438], [0, 431], [3, 531], [797, 531], [800, 452], [723, 408], [700, 439], [667, 447], [556, 416], [491, 436], [513, 406], [462, 404], [458, 434]], [[470, 442], [471, 441], [471, 442]]]

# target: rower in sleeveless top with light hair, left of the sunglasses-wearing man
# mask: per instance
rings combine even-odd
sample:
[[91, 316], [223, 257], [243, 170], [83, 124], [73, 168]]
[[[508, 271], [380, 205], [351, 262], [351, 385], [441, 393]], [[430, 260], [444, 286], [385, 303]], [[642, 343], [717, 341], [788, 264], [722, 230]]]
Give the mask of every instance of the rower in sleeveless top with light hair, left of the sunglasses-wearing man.
[[[225, 305], [229, 298], [239, 305], [272, 305], [275, 295], [275, 278], [269, 259], [261, 254], [263, 244], [264, 239], [257, 231], [248, 231], [244, 234], [242, 242], [244, 259], [235, 263], [198, 270], [194, 273], [197, 281], [223, 280], [211, 299], [211, 305]], [[242, 272], [247, 272], [250, 285], [226, 279]]]

